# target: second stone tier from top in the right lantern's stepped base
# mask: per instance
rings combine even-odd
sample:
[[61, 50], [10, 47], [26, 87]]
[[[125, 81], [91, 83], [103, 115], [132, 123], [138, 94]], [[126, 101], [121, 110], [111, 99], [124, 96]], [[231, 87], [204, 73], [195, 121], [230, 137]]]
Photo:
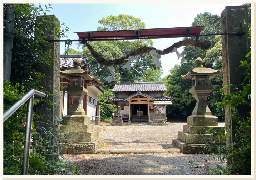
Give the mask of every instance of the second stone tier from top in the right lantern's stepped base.
[[[206, 132], [206, 130], [208, 131], [211, 128], [212, 126], [183, 125], [183, 132], [186, 132], [189, 134], [200, 134], [200, 132], [204, 133]], [[210, 130], [210, 133], [213, 133], [213, 132], [221, 132], [222, 134], [225, 134], [225, 127], [215, 126]]]

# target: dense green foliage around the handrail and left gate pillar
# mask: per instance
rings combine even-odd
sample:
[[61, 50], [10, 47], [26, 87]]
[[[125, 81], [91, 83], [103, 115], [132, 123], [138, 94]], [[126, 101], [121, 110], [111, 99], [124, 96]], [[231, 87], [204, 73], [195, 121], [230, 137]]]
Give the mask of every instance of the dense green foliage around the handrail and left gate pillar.
[[[45, 5], [46, 9], [44, 10], [41, 5], [35, 7], [33, 4], [10, 4], [14, 7], [15, 19], [11, 33], [11, 36], [13, 36], [11, 82], [4, 80], [4, 111], [32, 88], [47, 92], [39, 86], [41, 78], [44, 78], [45, 75], [35, 69], [40, 65], [49, 65], [54, 59], [51, 58], [51, 49], [43, 51], [41, 47], [50, 46], [46, 34], [66, 37], [64, 33], [68, 31], [67, 27], [62, 27], [64, 23], [60, 24], [56, 22], [55, 18], [46, 14], [49, 11], [48, 9], [51, 8], [51, 5], [48, 5]], [[4, 4], [4, 25], [8, 23], [5, 19], [8, 6], [9, 4]], [[4, 31], [5, 35], [6, 32]], [[48, 95], [50, 96], [50, 94]], [[53, 105], [53, 102], [41, 100], [36, 96], [34, 104], [38, 103], [39, 100], [43, 105]], [[25, 131], [23, 123], [26, 120], [26, 110], [27, 102], [4, 122], [4, 174], [21, 174]], [[41, 118], [41, 115], [33, 112], [33, 119], [35, 118]], [[65, 173], [68, 173], [70, 165], [61, 164], [63, 162], [56, 155], [51, 156], [52, 158], [44, 155], [47, 150], [45, 144], [49, 144], [50, 140], [37, 136], [36, 128], [39, 127], [35, 124], [36, 122], [33, 122], [32, 134], [34, 141], [31, 142], [33, 152], [30, 153], [29, 157], [29, 174], [56, 174], [63, 173], [64, 169]], [[52, 127], [50, 130], [45, 129], [45, 132], [50, 132], [53, 136], [58, 137], [59, 132], [56, 131], [54, 126]], [[53, 143], [53, 145], [59, 147], [58, 143]], [[50, 153], [55, 152], [50, 151]], [[56, 172], [56, 169], [59, 169], [59, 172]]]

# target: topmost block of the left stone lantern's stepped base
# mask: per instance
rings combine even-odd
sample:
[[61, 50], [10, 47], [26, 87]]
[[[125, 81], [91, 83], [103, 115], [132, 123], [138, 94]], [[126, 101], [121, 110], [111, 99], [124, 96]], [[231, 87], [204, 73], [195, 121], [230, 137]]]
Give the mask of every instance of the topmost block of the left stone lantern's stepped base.
[[86, 115], [67, 115], [62, 117], [61, 125], [89, 125], [90, 117]]

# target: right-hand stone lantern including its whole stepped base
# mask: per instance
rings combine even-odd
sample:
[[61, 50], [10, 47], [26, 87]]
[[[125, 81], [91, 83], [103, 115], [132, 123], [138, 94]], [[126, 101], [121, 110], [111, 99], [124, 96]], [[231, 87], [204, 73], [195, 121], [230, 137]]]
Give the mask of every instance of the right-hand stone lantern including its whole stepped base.
[[[178, 132], [178, 139], [172, 140], [172, 144], [180, 148], [183, 153], [207, 153], [205, 151], [207, 141], [205, 138], [210, 138], [210, 135], [201, 136], [200, 132], [203, 134], [206, 130], [212, 128], [211, 133], [221, 132], [225, 134], [225, 127], [218, 127], [218, 118], [212, 116], [206, 102], [209, 93], [213, 91], [213, 87], [209, 86], [209, 79], [219, 74], [220, 71], [203, 67], [201, 58], [197, 58], [195, 63], [195, 68], [190, 69], [181, 78], [192, 80], [192, 88], [189, 89], [189, 92], [196, 99], [196, 107], [192, 116], [187, 118], [187, 125], [183, 125], [183, 131]], [[225, 139], [220, 136], [220, 141], [218, 141], [218, 137], [215, 136], [212, 138], [213, 141], [222, 144]]]

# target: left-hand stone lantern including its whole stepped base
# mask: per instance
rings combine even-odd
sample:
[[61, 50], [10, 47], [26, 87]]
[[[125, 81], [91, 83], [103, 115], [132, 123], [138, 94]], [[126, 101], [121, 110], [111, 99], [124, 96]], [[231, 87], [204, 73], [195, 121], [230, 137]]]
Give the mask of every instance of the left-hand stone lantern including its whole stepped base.
[[67, 116], [63, 116], [60, 133], [64, 137], [60, 142], [68, 143], [68, 147], [62, 148], [59, 154], [92, 154], [103, 144], [104, 138], [99, 137], [99, 131], [94, 131], [94, 125], [90, 124], [90, 117], [85, 115], [82, 100], [87, 95], [87, 89], [83, 87], [84, 80], [93, 79], [87, 70], [81, 69], [81, 61], [74, 61], [74, 69], [60, 71], [60, 75], [70, 81], [66, 88], [73, 99], [73, 104]]

